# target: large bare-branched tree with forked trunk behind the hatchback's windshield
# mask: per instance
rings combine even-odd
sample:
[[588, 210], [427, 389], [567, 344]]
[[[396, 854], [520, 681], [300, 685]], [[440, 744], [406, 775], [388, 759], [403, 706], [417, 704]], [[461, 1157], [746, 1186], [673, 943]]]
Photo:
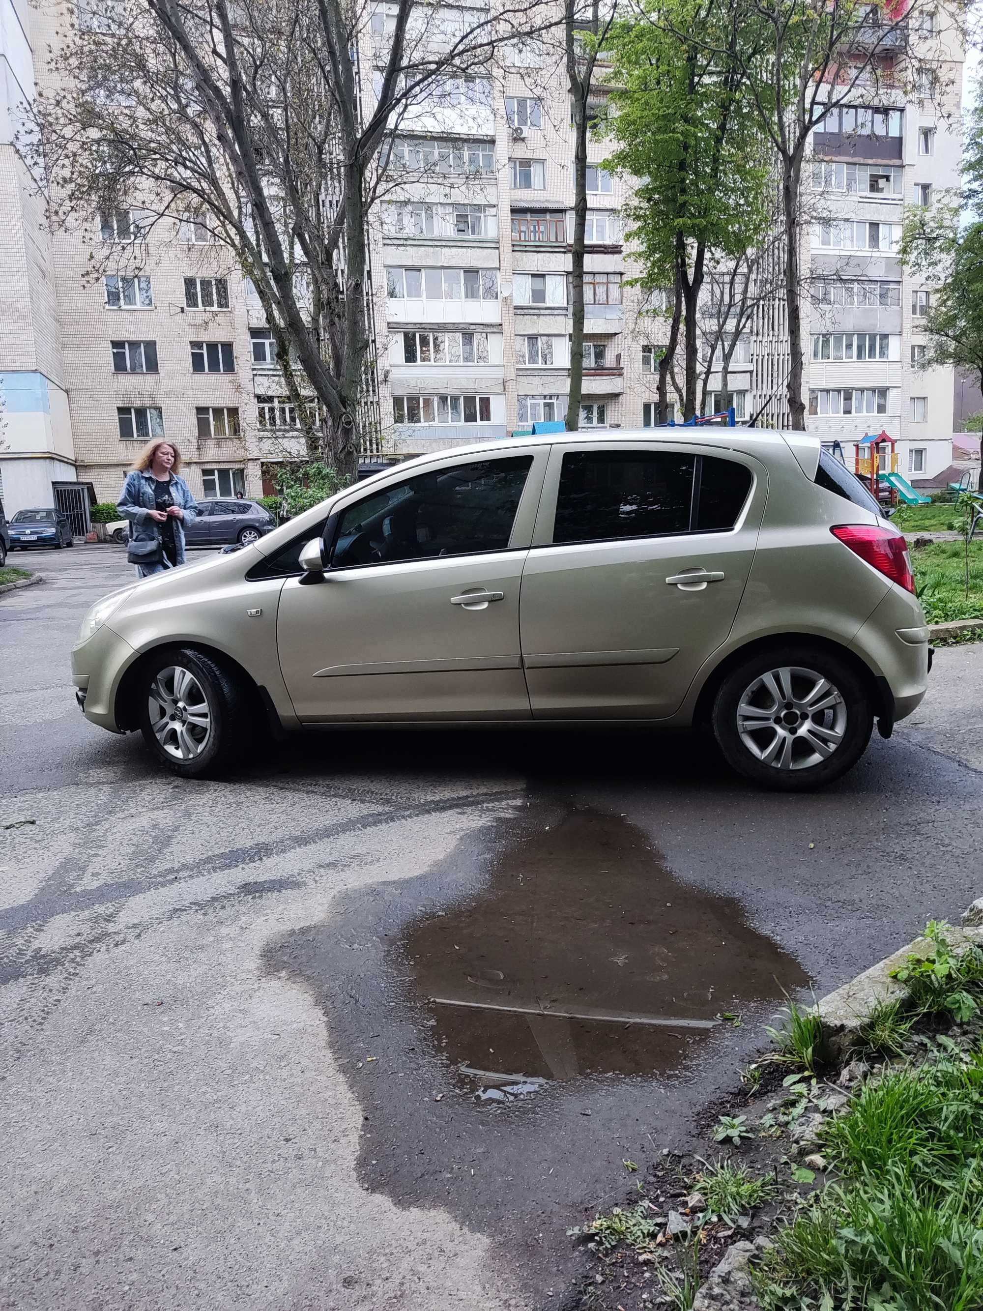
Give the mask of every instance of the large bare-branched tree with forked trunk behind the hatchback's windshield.
[[473, 16], [422, 0], [89, 0], [80, 16], [58, 35], [55, 87], [21, 143], [52, 223], [98, 224], [136, 203], [140, 235], [189, 215], [224, 244], [266, 313], [309, 447], [354, 473], [368, 220], [395, 143], [442, 122], [460, 132], [471, 79], [554, 12], [547, 0]]

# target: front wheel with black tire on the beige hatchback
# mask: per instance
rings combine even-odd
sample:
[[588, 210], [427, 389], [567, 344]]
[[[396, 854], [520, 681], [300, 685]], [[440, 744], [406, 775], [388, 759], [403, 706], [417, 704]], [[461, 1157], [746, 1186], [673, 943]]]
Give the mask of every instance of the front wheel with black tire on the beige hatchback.
[[143, 666], [136, 696], [144, 742], [173, 773], [215, 777], [245, 756], [246, 687], [211, 657], [186, 646], [159, 652]]

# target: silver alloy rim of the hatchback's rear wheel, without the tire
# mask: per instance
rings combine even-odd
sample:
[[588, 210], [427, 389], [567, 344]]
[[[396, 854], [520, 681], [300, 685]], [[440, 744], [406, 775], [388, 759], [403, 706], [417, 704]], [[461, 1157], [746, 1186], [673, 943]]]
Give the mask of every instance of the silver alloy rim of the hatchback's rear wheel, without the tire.
[[763, 764], [809, 770], [828, 760], [841, 745], [847, 703], [814, 669], [772, 669], [742, 692], [737, 728], [744, 747]]

